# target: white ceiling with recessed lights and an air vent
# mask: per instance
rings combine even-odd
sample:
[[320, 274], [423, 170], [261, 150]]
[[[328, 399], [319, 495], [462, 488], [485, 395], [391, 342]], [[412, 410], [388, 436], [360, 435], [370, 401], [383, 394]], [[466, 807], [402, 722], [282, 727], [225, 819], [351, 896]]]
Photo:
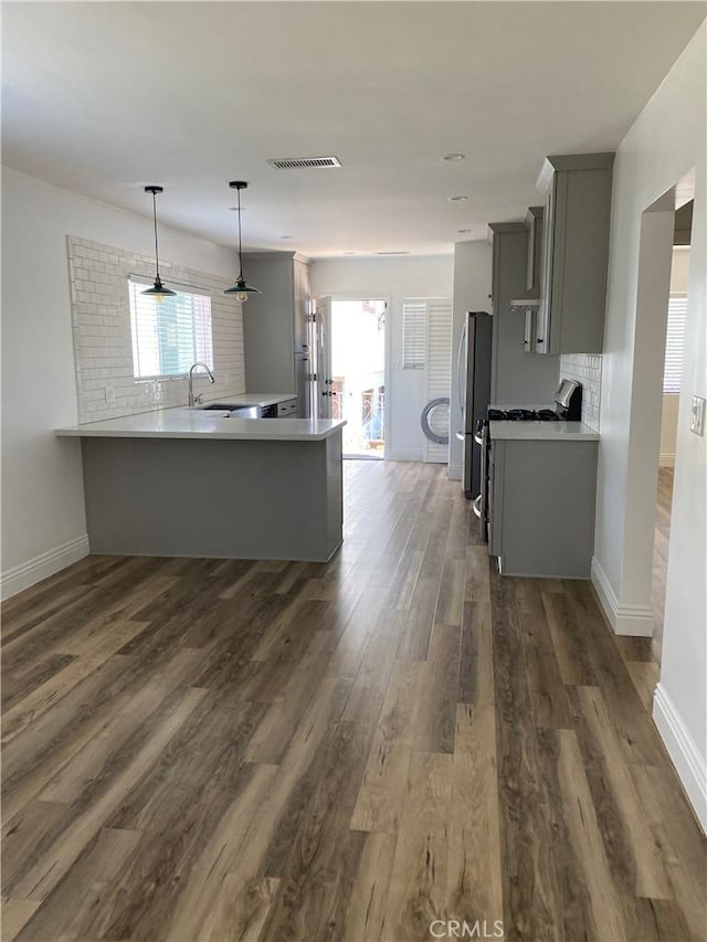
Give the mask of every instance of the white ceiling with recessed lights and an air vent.
[[[704, 17], [672, 0], [4, 2], [2, 159], [145, 215], [161, 183], [161, 221], [226, 245], [242, 179], [249, 248], [450, 252], [538, 202], [546, 154], [614, 149]], [[325, 155], [342, 168], [266, 163]]]

